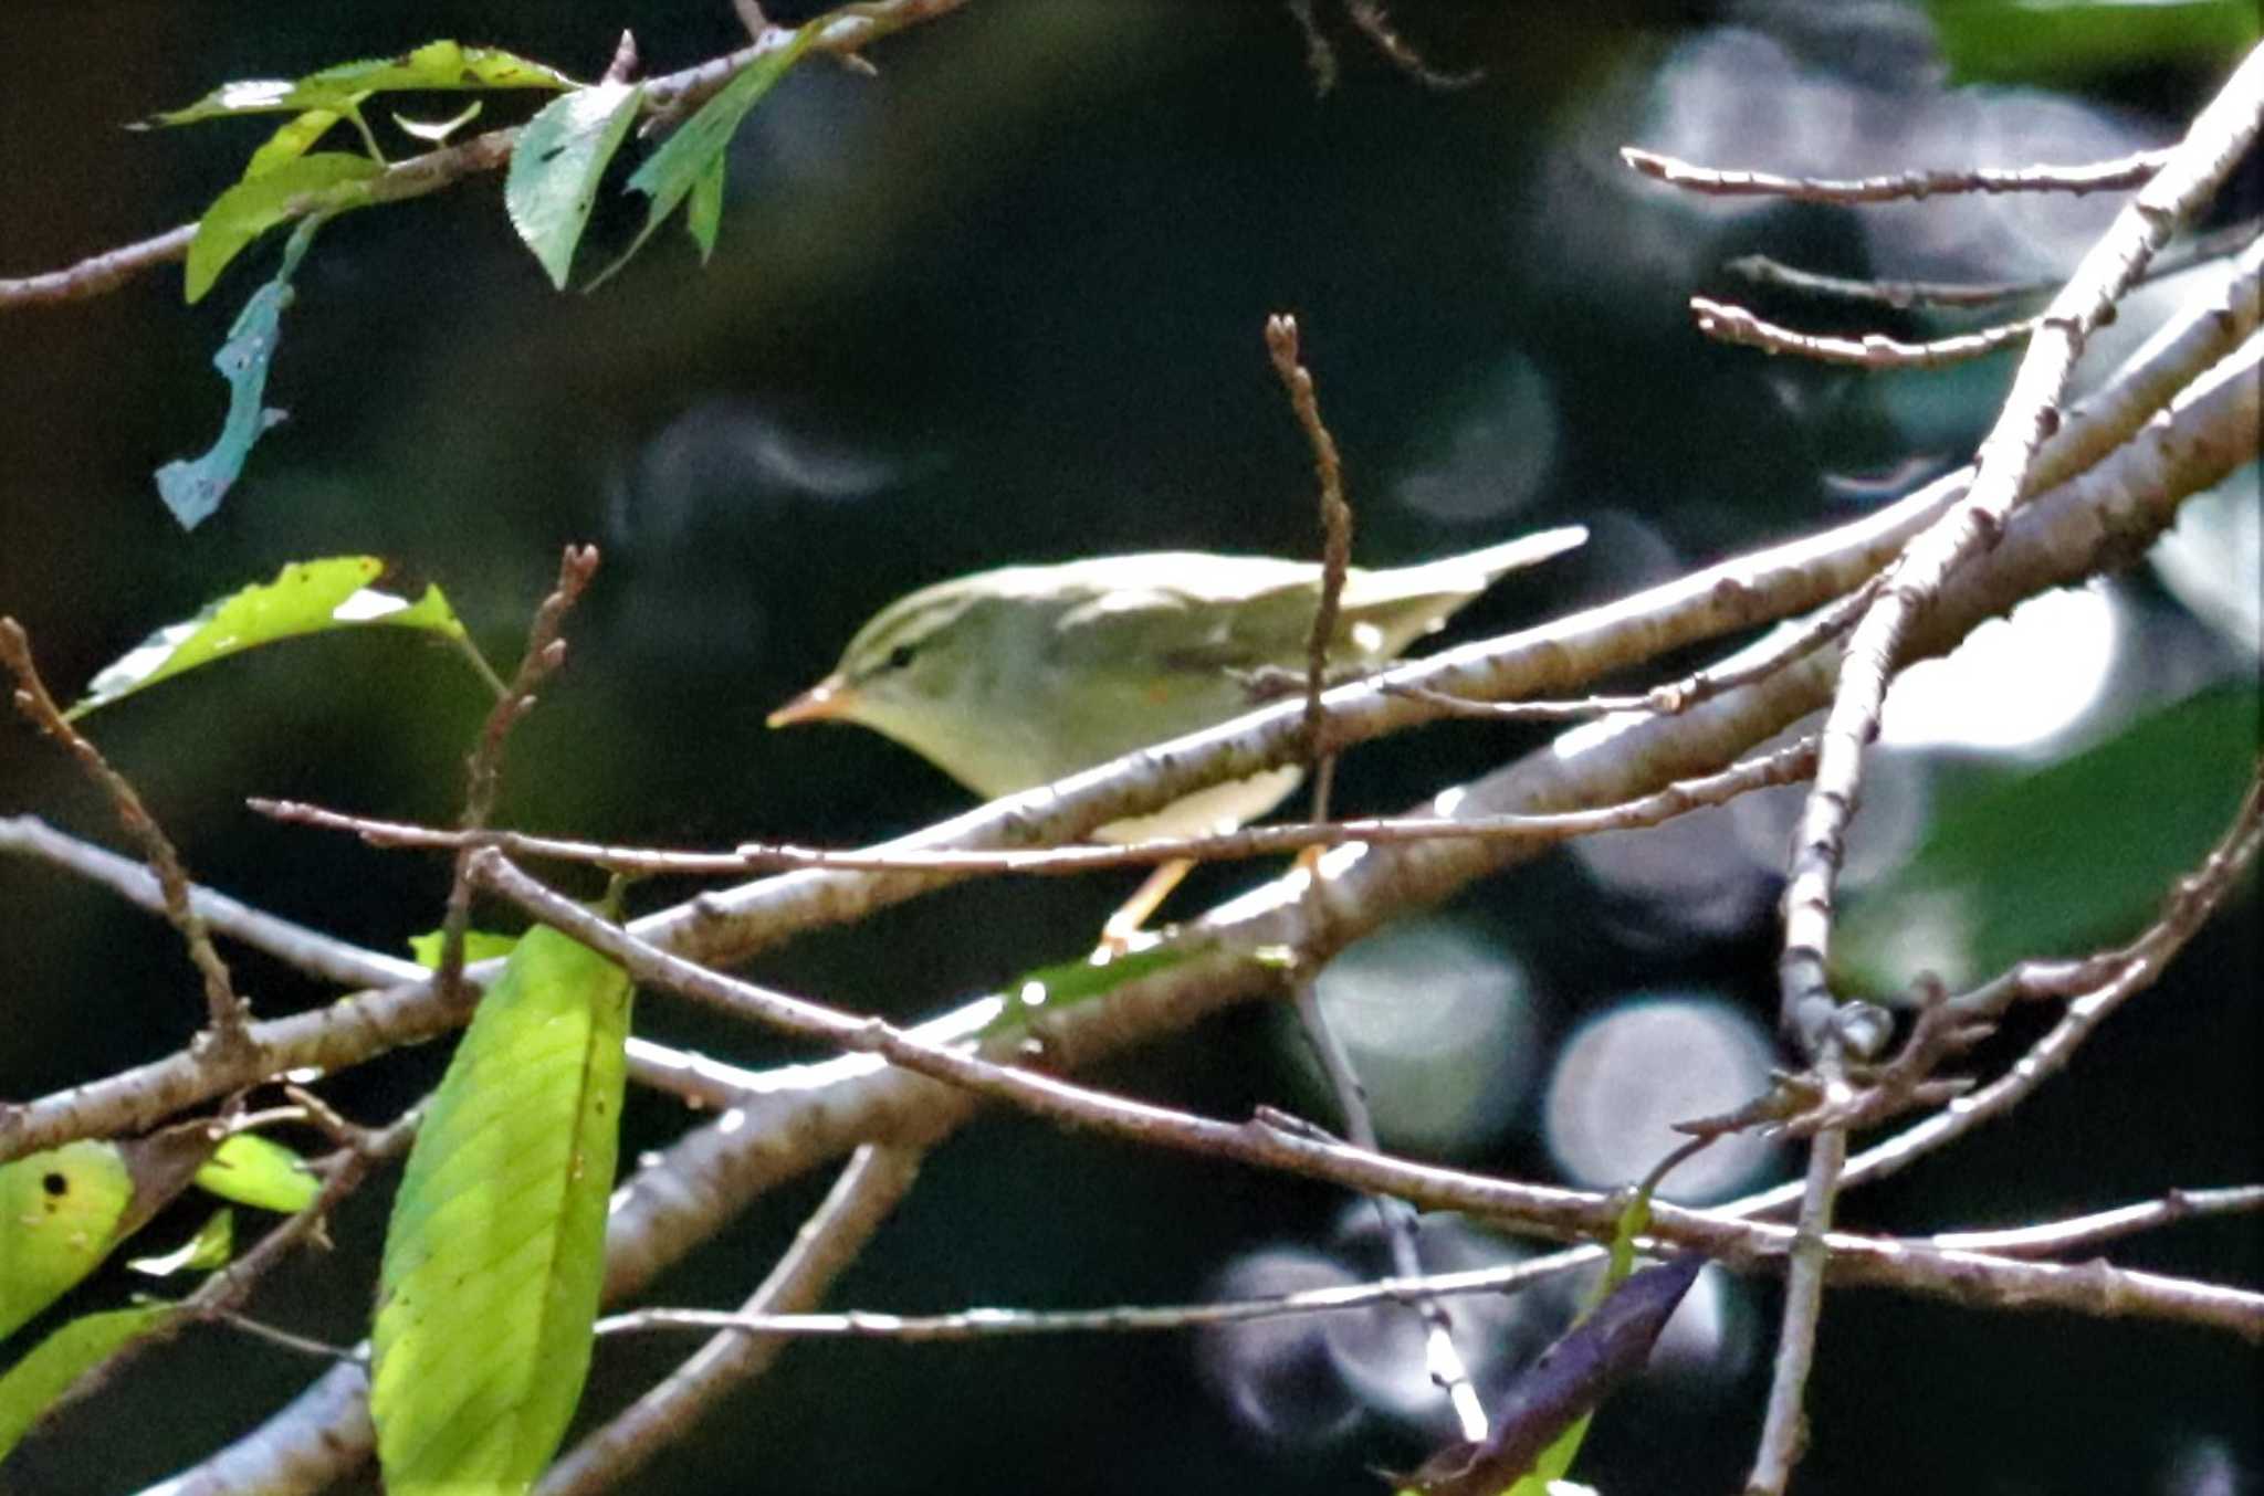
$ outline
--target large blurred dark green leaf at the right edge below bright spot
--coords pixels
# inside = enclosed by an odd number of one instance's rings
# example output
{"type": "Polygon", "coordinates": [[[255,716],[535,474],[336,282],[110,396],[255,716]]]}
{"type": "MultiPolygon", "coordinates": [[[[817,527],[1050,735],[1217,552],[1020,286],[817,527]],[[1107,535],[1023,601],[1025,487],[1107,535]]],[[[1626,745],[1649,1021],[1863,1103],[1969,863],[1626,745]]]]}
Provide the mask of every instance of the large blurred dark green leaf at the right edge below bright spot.
{"type": "Polygon", "coordinates": [[[2223,833],[2264,697],[2219,686],[1945,806],[1911,860],[1850,896],[1834,966],[1872,994],[1920,971],[1970,987],[2024,957],[2128,939],[2223,833]]]}

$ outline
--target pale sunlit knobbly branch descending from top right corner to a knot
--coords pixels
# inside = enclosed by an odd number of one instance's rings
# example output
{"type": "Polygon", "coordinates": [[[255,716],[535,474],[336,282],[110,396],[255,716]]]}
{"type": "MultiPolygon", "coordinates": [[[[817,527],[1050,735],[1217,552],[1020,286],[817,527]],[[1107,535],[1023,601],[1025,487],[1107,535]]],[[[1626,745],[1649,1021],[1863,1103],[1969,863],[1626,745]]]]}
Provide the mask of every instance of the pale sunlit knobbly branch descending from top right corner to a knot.
{"type": "Polygon", "coordinates": [[[2162,170],[2115,215],[2074,276],[2044,308],[2042,326],[2013,376],[1974,464],[1972,489],[1895,561],[1847,645],[1847,665],[1823,726],[1816,785],[1800,815],[1800,831],[1784,889],[1784,953],[1780,960],[1784,1023],[1813,1052],[1836,1021],[1827,960],[1838,869],[1847,824],[1863,794],[1863,749],[1879,733],[1886,683],[1915,620],[1943,584],[1986,552],[2029,489],[2044,441],[2060,425],[2060,396],[2092,328],[2169,235],[2216,190],[2264,127],[2264,45],[2235,70],[2226,88],[2196,115],[2194,127],[2162,170]]]}

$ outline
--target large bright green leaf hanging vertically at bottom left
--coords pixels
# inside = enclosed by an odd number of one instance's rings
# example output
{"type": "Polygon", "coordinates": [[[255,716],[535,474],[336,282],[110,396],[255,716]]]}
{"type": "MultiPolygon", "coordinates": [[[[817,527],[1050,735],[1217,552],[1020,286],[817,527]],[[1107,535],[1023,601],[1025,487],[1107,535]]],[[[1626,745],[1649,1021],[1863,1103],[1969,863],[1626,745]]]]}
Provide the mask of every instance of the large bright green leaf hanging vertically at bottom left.
{"type": "Polygon", "coordinates": [[[417,1129],[385,1233],[369,1410],[389,1496],[523,1491],[589,1374],[629,980],[518,942],[417,1129]]]}

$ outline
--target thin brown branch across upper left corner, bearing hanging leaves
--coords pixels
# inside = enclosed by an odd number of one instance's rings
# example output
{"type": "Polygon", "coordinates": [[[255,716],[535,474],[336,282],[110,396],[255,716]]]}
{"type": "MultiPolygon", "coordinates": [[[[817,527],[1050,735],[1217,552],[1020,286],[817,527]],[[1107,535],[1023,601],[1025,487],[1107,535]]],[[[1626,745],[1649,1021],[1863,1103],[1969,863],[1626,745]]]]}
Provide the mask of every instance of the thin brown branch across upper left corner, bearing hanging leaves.
{"type": "MultiPolygon", "coordinates": [[[[831,52],[835,57],[856,57],[865,45],[890,36],[892,32],[919,25],[921,20],[933,20],[946,11],[955,11],[964,2],[967,0],[865,0],[863,5],[844,5],[826,23],[826,29],[820,32],[817,41],[811,43],[811,50],[831,52]]],[[[711,59],[697,68],[684,68],[681,72],[666,72],[650,79],[645,84],[643,100],[648,115],[675,120],[691,113],[729,84],[740,68],[752,63],[763,52],[774,50],[774,45],[777,43],[765,38],[763,43],[740,48],[738,52],[711,59]]],[[[466,177],[496,172],[509,163],[516,147],[518,129],[491,129],[460,145],[396,161],[369,181],[371,201],[423,197],[455,186],[466,177]]],[[[306,206],[294,204],[288,208],[285,222],[303,215],[306,210],[306,206]]],[[[48,301],[84,301],[88,296],[113,292],[147,269],[186,260],[188,244],[195,238],[197,224],[181,224],[179,229],[168,229],[156,238],[88,256],[86,260],[66,265],[63,269],[50,269],[20,278],[0,278],[0,312],[48,301]]]]}

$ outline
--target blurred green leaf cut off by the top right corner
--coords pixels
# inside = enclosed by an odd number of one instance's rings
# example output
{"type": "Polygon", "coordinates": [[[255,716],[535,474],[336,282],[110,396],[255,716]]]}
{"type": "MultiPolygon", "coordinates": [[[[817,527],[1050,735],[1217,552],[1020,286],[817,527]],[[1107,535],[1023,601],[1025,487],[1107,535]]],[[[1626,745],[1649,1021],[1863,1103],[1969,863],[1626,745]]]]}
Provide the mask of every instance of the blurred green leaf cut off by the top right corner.
{"type": "Polygon", "coordinates": [[[2257,41],[2255,0],[1927,0],[1954,84],[2078,84],[2230,66],[2257,41]]]}

